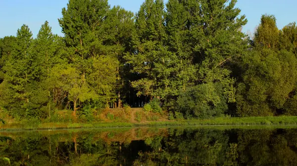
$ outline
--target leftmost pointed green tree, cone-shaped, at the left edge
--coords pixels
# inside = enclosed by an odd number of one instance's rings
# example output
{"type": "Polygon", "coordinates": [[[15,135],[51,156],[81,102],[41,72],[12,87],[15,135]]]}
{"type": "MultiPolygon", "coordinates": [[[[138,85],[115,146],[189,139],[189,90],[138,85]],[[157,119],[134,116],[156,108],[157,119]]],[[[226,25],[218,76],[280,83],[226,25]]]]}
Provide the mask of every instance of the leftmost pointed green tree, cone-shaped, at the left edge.
{"type": "Polygon", "coordinates": [[[32,94],[30,84],[37,73],[32,54],[32,32],[23,25],[17,31],[16,42],[11,56],[4,66],[5,79],[1,83],[1,105],[13,116],[30,114],[29,102],[32,94]],[[28,112],[29,111],[29,112],[28,112]]]}

